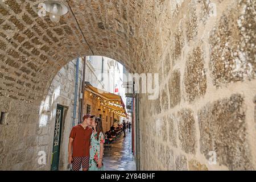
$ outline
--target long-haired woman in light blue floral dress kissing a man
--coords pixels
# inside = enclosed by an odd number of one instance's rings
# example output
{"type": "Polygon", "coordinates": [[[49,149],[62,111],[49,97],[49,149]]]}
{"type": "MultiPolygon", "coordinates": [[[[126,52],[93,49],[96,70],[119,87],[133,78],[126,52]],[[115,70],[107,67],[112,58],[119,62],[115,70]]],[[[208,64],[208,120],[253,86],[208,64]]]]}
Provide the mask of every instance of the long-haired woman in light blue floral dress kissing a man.
{"type": "Polygon", "coordinates": [[[102,129],[101,118],[92,121],[93,133],[90,137],[89,171],[103,171],[103,150],[105,136],[102,129]]]}

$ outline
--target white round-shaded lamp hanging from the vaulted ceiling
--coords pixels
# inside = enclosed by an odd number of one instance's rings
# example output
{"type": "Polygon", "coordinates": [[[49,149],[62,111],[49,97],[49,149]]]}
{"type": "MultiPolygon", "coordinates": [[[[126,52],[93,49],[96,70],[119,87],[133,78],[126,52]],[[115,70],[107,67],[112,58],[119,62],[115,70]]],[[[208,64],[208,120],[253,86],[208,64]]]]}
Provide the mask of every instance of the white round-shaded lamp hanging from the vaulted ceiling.
{"type": "Polygon", "coordinates": [[[45,1],[46,11],[49,12],[49,18],[52,22],[59,22],[60,16],[68,13],[68,8],[59,1],[45,1]]]}

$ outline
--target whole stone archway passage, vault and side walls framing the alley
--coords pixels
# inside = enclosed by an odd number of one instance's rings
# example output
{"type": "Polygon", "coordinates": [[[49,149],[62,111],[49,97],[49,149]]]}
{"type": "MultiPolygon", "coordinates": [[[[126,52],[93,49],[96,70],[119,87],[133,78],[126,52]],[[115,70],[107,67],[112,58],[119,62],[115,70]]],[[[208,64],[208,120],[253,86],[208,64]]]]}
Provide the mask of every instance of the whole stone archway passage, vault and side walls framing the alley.
{"type": "Polygon", "coordinates": [[[0,169],[35,162],[22,148],[36,150],[40,101],[61,67],[84,55],[160,73],[160,98],[140,98],[141,169],[256,168],[254,1],[69,0],[57,24],[38,16],[40,2],[0,2],[0,109],[9,123],[0,126],[0,169]],[[212,150],[222,166],[208,164],[212,150]]]}

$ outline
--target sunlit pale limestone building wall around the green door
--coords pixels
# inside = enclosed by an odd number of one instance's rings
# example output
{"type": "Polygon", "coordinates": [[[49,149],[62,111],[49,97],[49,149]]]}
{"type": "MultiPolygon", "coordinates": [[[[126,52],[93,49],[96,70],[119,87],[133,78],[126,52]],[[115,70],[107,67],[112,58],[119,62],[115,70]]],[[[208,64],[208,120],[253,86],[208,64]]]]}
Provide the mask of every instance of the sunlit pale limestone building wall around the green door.
{"type": "MultiPolygon", "coordinates": [[[[76,117],[75,125],[79,122],[79,90],[81,90],[82,82],[82,66],[83,61],[80,58],[79,61],[79,88],[77,95],[76,105],[76,117]]],[[[73,109],[75,98],[75,79],[76,79],[76,60],[72,60],[53,78],[51,85],[49,86],[48,95],[46,100],[42,102],[39,110],[39,127],[37,127],[37,135],[41,140],[36,143],[37,147],[45,145],[47,154],[47,164],[36,166],[40,170],[51,169],[52,158],[52,146],[56,121],[56,109],[57,105],[64,107],[63,123],[61,131],[61,143],[60,143],[60,159],[59,170],[68,169],[68,140],[69,133],[72,129],[73,122],[73,109]]],[[[35,155],[36,155],[35,150],[35,155]]],[[[35,159],[38,159],[38,157],[35,159]]]]}

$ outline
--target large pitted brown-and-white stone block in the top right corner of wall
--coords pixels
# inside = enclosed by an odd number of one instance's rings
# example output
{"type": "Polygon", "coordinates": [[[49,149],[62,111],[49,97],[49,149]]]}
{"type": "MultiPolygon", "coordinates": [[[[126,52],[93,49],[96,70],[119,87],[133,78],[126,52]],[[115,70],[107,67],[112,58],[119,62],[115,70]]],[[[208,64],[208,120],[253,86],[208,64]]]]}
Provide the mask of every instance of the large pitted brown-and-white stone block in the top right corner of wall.
{"type": "Polygon", "coordinates": [[[210,70],[218,88],[230,82],[254,78],[255,3],[240,1],[225,11],[210,33],[210,70]]]}

